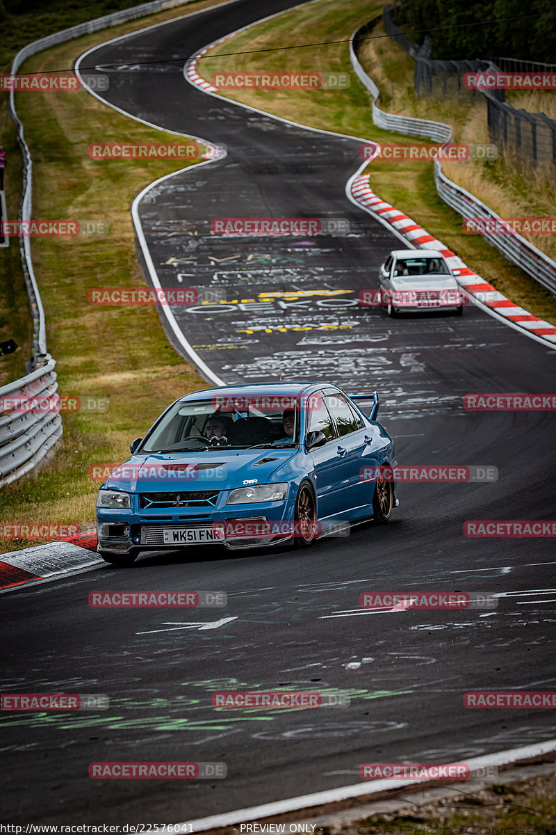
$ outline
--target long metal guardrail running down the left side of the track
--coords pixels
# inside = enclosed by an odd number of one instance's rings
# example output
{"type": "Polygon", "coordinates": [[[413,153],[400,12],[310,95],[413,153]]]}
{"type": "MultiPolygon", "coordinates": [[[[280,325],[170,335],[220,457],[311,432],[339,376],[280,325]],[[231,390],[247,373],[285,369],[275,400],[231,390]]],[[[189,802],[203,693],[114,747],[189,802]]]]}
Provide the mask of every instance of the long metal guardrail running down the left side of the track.
{"type": "MultiPolygon", "coordinates": [[[[20,49],[13,58],[11,74],[18,73],[19,68],[27,58],[66,43],[74,38],[81,38],[93,32],[116,26],[118,23],[128,23],[136,18],[143,18],[148,14],[162,12],[167,8],[183,6],[193,0],[153,0],[141,6],[124,9],[122,12],[104,15],[86,23],[79,23],[68,29],[62,29],[39,38],[33,43],[20,49]]],[[[33,160],[25,141],[23,124],[15,108],[14,91],[10,91],[10,114],[18,132],[18,143],[23,156],[23,189],[19,209],[20,220],[31,220],[33,208],[33,160]]],[[[31,242],[28,237],[19,238],[23,276],[28,290],[31,313],[33,316],[33,362],[34,371],[26,377],[8,385],[0,387],[0,398],[26,397],[25,392],[33,392],[33,397],[48,395],[58,388],[56,382],[55,360],[47,352],[46,326],[43,302],[38,291],[37,280],[33,271],[31,257],[31,242]]],[[[62,437],[62,418],[59,412],[18,412],[8,409],[0,413],[0,488],[21,478],[41,461],[48,451],[53,448],[62,437]]]]}

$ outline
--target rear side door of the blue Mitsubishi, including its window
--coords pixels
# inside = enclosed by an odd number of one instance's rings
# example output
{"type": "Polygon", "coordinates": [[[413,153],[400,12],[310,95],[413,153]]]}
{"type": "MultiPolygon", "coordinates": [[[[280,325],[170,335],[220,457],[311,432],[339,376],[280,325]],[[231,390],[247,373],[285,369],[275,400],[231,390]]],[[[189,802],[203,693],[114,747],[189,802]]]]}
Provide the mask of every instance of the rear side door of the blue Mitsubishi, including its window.
{"type": "Polygon", "coordinates": [[[363,504],[363,489],[359,476],[366,445],[363,420],[349,406],[347,398],[341,392],[325,395],[324,402],[333,417],[338,435],[337,452],[342,461],[338,465],[342,489],[341,509],[350,510],[363,504]]]}

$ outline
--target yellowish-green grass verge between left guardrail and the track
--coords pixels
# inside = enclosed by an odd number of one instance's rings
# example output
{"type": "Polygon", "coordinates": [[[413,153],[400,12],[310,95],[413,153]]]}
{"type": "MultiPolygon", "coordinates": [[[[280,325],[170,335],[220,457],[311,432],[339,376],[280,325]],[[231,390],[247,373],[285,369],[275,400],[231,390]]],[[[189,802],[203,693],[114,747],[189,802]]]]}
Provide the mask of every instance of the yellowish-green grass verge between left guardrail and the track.
{"type": "MultiPolygon", "coordinates": [[[[23,71],[72,67],[75,58],[96,43],[211,5],[191,3],[183,10],[64,43],[29,59],[23,71]]],[[[33,216],[108,220],[106,237],[37,238],[32,250],[46,313],[48,351],[58,363],[60,393],[108,397],[110,405],[106,413],[63,416],[58,453],[38,472],[0,491],[0,518],[90,529],[98,483],[89,478],[89,467],[128,458],[130,440],[143,435],[169,402],[206,387],[203,378],[169,345],[153,306],[88,303],[89,288],[144,286],[131,203],[145,185],[182,169],[188,160],[90,159],[92,140],[140,143],[176,141],[177,137],[127,119],[88,94],[18,94],[16,107],[33,158],[33,216]]],[[[10,245],[10,257],[16,251],[16,245],[10,245]]],[[[8,286],[10,273],[4,264],[1,275],[2,286],[8,286]]],[[[29,544],[35,543],[0,540],[0,550],[29,544]]]]}

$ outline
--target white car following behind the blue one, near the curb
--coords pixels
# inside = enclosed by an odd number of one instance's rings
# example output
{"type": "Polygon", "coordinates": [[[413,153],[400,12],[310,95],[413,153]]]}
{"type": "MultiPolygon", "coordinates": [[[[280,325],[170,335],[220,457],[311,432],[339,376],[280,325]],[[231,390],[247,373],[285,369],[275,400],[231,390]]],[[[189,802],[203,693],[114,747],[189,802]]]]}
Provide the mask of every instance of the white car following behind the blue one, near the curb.
{"type": "Polygon", "coordinates": [[[388,315],[431,308],[463,313],[465,292],[437,250],[394,250],[378,271],[388,315]]]}

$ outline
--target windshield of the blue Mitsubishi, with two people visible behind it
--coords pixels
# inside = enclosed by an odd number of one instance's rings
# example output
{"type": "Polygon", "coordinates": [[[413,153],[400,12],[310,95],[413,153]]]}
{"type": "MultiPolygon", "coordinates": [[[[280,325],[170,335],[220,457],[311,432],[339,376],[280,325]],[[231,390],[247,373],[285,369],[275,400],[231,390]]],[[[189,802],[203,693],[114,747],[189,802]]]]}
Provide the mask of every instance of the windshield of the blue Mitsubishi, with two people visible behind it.
{"type": "Polygon", "coordinates": [[[294,447],[299,407],[293,397],[243,395],[178,401],[155,423],[140,453],[201,452],[204,449],[294,447]]]}

